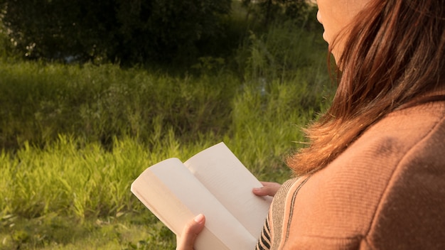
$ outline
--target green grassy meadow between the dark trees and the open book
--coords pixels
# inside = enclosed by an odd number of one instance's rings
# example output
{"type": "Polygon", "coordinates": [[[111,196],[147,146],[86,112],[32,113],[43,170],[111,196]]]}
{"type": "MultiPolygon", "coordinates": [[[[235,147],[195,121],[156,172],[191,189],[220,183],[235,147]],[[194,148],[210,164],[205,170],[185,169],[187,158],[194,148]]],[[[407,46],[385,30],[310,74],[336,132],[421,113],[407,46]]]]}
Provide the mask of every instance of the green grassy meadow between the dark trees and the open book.
{"type": "Polygon", "coordinates": [[[220,141],[260,180],[290,178],[332,96],[327,46],[291,24],[246,41],[181,73],[2,58],[0,249],[174,249],[129,187],[220,141]]]}

